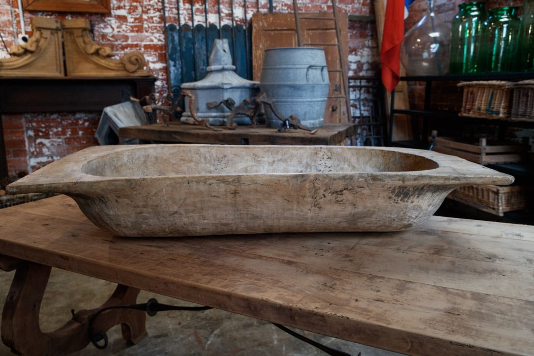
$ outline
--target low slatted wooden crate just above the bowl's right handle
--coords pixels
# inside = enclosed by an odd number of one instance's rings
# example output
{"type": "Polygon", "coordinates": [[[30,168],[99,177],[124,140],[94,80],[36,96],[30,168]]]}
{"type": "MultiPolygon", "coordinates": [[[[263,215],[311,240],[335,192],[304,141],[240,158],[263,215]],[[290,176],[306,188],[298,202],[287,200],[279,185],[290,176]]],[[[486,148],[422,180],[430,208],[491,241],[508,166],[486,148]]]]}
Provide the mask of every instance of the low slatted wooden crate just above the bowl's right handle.
{"type": "Polygon", "coordinates": [[[466,143],[453,137],[434,137],[433,151],[461,157],[478,164],[521,162],[528,145],[489,145],[485,138],[478,144],[466,143]]]}

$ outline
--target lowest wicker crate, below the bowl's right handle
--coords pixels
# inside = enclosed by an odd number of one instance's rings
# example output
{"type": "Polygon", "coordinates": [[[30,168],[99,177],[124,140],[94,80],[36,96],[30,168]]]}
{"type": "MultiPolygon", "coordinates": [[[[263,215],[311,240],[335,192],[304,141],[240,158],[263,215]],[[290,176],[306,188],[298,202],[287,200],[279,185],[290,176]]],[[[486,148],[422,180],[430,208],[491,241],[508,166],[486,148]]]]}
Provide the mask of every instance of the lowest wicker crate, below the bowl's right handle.
{"type": "Polygon", "coordinates": [[[470,185],[452,191],[448,198],[503,216],[507,211],[527,208],[527,191],[523,186],[470,185]]]}

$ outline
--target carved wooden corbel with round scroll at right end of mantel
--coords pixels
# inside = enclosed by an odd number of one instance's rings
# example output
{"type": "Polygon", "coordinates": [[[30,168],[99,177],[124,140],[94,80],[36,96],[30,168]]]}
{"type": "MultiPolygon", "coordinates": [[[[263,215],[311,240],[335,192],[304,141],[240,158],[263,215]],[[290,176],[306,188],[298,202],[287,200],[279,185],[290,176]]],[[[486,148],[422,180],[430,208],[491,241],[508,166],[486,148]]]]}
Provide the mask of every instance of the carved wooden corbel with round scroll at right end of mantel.
{"type": "Polygon", "coordinates": [[[148,76],[145,58],[138,51],[113,59],[110,48],[91,38],[87,19],[61,20],[65,48],[65,64],[69,77],[148,76]]]}

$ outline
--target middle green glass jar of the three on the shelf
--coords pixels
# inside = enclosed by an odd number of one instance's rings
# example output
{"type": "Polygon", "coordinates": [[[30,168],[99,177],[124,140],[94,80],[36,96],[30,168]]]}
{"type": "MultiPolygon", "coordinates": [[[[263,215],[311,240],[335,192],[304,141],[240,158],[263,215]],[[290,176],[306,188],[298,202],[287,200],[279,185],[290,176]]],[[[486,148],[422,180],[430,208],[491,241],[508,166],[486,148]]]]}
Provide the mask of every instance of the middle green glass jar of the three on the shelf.
{"type": "Polygon", "coordinates": [[[516,6],[497,7],[489,11],[484,22],[485,38],[482,58],[486,58],[481,72],[516,72],[519,68],[519,30],[521,20],[516,6]]]}

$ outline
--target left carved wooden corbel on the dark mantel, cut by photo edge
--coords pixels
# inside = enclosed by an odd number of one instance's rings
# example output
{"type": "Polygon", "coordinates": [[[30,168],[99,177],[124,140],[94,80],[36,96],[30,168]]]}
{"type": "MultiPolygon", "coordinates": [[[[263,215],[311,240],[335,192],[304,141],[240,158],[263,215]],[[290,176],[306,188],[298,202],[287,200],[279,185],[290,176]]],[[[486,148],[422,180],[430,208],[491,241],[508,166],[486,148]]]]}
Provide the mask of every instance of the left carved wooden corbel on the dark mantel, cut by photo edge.
{"type": "Polygon", "coordinates": [[[0,59],[0,77],[65,76],[60,21],[36,17],[32,29],[26,44],[11,46],[12,57],[0,59]]]}

